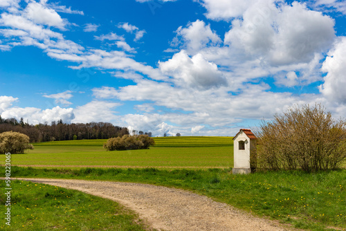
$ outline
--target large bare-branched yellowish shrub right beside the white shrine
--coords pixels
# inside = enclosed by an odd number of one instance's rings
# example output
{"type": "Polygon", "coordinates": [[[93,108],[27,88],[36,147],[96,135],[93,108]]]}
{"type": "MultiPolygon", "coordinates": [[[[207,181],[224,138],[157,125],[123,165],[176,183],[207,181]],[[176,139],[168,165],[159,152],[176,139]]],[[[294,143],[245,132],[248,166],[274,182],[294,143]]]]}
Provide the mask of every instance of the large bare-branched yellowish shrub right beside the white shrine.
{"type": "Polygon", "coordinates": [[[316,104],[293,107],[262,122],[257,133],[257,166],[267,169],[336,169],[346,158],[346,122],[316,104]]]}

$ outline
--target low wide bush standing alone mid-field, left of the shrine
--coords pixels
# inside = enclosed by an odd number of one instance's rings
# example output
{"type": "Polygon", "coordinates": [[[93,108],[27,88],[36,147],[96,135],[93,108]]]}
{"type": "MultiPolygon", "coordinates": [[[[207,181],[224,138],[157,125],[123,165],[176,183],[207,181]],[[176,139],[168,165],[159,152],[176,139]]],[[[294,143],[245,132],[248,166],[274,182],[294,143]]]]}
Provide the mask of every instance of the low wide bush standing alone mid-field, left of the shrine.
{"type": "Polygon", "coordinates": [[[107,143],[103,145],[107,151],[120,151],[132,149],[149,149],[151,145],[155,145],[153,138],[147,135],[129,136],[110,138],[107,143]]]}

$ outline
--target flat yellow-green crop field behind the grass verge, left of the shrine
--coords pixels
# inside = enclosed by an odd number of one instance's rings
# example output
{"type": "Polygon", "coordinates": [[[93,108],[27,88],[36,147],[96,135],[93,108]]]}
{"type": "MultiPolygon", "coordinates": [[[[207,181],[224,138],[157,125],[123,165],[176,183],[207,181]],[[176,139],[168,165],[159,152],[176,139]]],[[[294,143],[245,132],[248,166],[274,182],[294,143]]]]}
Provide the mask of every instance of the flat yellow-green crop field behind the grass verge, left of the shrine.
{"type": "MultiPolygon", "coordinates": [[[[145,150],[106,151],[107,140],[69,140],[33,144],[24,155],[12,155],[12,165],[35,167],[233,167],[230,137],[154,138],[145,150]]],[[[1,157],[4,158],[4,157],[1,157]]]]}

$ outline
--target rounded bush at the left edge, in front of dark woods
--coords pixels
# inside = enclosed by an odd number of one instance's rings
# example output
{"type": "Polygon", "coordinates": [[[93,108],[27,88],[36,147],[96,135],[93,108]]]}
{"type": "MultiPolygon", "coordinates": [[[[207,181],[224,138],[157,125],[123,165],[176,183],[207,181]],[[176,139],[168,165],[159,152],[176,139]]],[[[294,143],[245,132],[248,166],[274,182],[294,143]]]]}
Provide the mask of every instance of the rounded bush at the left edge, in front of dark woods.
{"type": "Polygon", "coordinates": [[[24,154],[26,149],[34,149],[29,137],[23,133],[6,131],[0,133],[0,154],[24,154]]]}

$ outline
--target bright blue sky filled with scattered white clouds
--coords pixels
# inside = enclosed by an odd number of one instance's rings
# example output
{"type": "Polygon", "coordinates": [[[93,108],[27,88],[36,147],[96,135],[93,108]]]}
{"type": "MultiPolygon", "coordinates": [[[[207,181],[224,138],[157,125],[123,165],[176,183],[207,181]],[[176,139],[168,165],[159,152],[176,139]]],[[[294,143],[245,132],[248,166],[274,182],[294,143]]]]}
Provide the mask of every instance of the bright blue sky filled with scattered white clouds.
{"type": "Polygon", "coordinates": [[[0,115],[234,136],[346,113],[346,2],[0,0],[0,115]]]}

